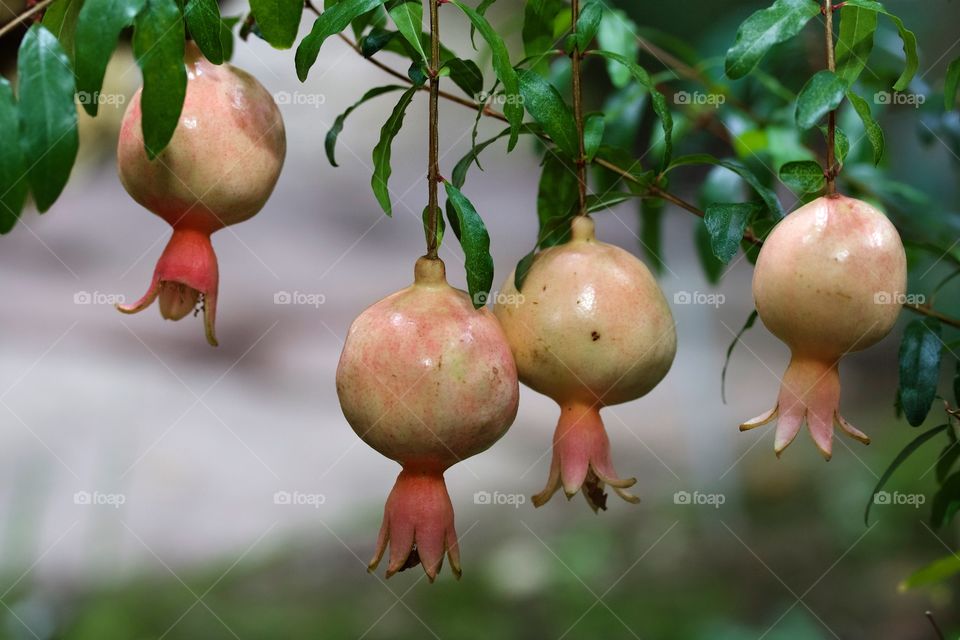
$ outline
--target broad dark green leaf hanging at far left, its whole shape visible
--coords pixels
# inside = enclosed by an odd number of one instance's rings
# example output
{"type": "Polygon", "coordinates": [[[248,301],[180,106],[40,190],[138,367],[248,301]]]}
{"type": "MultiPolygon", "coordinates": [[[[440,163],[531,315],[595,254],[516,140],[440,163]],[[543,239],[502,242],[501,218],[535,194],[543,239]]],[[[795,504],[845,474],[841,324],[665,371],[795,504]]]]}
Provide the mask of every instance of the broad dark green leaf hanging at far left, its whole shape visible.
{"type": "MultiPolygon", "coordinates": [[[[57,37],[35,24],[20,43],[20,150],[37,209],[60,196],[77,158],[76,91],[70,59],[57,37]]],[[[4,145],[9,144],[4,141],[4,145]]]]}

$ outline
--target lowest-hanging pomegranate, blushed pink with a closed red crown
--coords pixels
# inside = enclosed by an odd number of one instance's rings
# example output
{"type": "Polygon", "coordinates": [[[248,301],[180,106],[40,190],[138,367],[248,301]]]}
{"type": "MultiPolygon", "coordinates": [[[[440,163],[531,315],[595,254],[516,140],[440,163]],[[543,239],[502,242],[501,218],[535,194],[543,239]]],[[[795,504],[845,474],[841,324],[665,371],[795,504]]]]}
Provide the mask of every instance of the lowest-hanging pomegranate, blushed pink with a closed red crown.
{"type": "Polygon", "coordinates": [[[374,304],[350,327],[337,395],[357,435],[403,466],[370,570],[389,546],[388,578],[421,563],[432,582],[444,552],[460,577],[443,472],[499,440],[520,396],[496,318],[447,284],[442,261],[420,258],[412,286],[374,304]]]}

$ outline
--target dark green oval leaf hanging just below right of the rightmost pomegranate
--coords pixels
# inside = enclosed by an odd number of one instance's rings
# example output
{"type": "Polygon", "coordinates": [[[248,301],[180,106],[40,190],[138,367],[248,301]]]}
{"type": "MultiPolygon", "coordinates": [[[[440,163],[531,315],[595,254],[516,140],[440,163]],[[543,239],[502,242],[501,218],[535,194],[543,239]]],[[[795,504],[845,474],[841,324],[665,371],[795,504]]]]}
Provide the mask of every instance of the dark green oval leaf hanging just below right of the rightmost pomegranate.
{"type": "Polygon", "coordinates": [[[940,381],[940,322],[933,318],[907,325],[900,343],[900,402],[907,421],[919,426],[927,417],[940,381]]]}

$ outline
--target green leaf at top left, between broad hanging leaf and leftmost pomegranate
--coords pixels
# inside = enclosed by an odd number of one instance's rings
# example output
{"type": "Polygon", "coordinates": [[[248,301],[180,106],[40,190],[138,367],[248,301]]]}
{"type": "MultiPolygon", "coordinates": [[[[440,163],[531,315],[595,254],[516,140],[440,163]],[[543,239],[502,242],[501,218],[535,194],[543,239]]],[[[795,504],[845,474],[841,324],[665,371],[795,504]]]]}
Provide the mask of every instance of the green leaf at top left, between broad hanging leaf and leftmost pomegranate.
{"type": "Polygon", "coordinates": [[[97,115],[98,97],[120,32],[133,24],[146,0],[86,0],[77,18],[76,72],[80,103],[97,115]]]}

